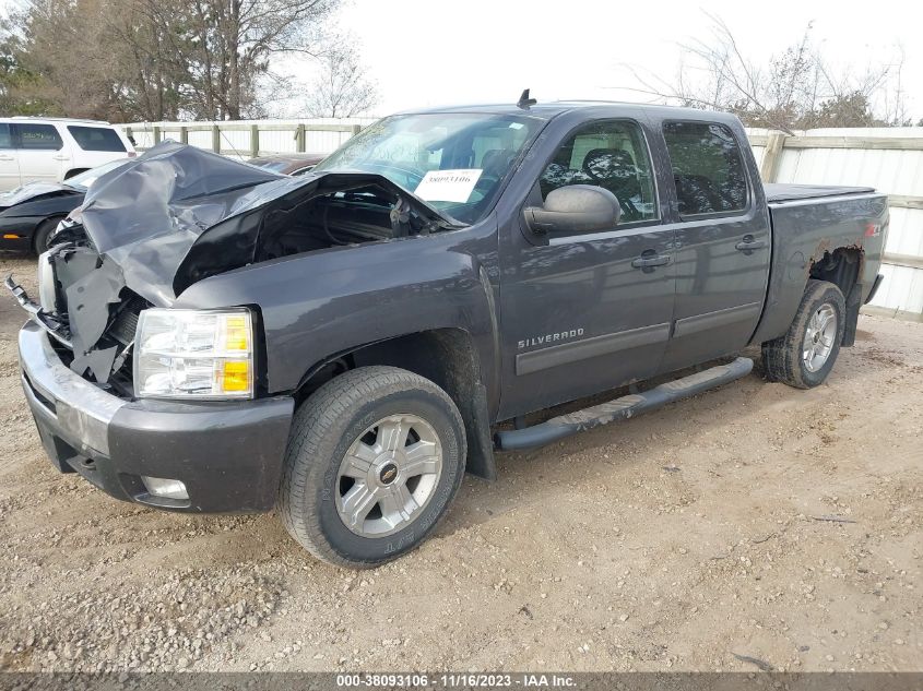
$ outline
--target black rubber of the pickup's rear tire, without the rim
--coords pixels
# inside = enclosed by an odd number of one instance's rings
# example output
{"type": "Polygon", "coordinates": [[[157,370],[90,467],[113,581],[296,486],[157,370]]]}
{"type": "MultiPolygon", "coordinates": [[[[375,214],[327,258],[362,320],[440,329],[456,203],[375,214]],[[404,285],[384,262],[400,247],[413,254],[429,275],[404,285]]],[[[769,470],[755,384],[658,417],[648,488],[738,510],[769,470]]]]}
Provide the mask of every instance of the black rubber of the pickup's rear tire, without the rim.
{"type": "Polygon", "coordinates": [[[845,325],[847,302],[840,289],[826,281],[808,281],[789,331],[762,344],[762,367],[767,379],[795,389],[812,389],[824,383],[840,354],[845,325]],[[812,371],[805,362],[802,348],[812,318],[825,306],[832,308],[836,313],[836,336],[826,362],[812,371]]]}

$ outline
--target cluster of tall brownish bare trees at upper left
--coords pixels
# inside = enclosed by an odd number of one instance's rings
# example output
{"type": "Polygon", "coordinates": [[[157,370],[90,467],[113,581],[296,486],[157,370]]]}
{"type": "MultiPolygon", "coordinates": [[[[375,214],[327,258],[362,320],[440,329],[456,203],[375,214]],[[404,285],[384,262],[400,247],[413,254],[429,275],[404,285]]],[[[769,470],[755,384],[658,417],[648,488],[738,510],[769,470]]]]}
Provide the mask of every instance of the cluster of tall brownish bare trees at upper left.
{"type": "Polygon", "coordinates": [[[271,61],[319,55],[339,2],[25,0],[0,26],[0,103],[108,119],[260,115],[271,61]]]}

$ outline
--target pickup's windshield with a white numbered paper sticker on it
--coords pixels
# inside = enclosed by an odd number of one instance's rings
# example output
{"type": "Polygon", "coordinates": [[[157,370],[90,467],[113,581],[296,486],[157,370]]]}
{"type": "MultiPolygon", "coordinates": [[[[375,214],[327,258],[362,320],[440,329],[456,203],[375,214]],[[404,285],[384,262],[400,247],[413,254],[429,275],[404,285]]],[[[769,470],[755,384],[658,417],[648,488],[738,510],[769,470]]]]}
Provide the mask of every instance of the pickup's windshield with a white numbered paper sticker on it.
{"type": "Polygon", "coordinates": [[[490,211],[541,124],[530,117],[485,114],[392,116],[363,130],[313,171],[375,172],[471,224],[490,211]]]}

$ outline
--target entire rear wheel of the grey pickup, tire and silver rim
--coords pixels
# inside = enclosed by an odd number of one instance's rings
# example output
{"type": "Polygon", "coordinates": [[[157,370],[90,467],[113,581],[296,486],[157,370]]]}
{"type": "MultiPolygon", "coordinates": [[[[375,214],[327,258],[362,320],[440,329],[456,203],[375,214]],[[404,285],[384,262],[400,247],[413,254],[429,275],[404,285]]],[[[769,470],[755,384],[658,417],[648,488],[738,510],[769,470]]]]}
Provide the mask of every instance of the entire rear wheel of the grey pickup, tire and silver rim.
{"type": "Polygon", "coordinates": [[[808,281],[789,331],[762,344],[767,378],[796,389],[821,384],[840,354],[845,325],[840,289],[826,281],[808,281]]]}

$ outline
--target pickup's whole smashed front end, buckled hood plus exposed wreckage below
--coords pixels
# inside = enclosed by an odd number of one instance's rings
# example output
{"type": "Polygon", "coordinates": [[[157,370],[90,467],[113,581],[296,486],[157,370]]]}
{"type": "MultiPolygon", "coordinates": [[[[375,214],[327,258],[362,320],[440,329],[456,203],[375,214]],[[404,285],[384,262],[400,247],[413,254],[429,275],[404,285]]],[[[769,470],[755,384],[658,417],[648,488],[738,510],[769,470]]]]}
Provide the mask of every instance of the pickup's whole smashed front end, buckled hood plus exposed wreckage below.
{"type": "Polygon", "coordinates": [[[94,182],[39,258],[39,302],[5,283],[72,371],[131,397],[141,311],[193,283],[460,225],[378,175],[291,178],[166,142],[94,182]]]}

